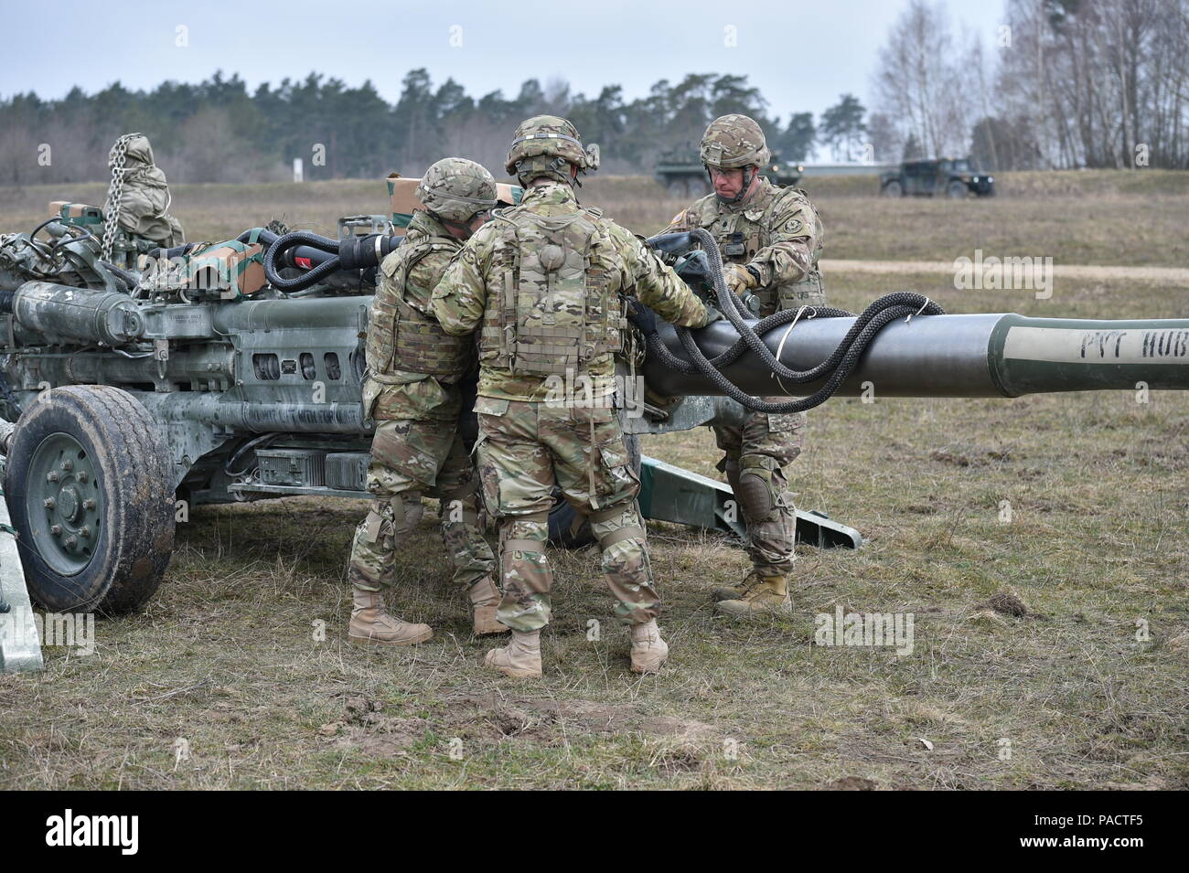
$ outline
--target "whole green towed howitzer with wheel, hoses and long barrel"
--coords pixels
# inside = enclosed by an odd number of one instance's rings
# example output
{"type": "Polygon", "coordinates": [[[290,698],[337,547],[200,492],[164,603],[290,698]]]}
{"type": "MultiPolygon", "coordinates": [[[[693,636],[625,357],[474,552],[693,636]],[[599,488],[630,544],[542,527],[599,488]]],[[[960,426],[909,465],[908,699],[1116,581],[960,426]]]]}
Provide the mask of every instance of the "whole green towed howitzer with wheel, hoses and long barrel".
{"type": "MultiPolygon", "coordinates": [[[[32,599],[119,612],[156,590],[175,521],[196,505],[363,496],[364,336],[376,265],[401,240],[352,234],[384,223],[367,216],[339,240],[256,228],[119,267],[74,220],[84,213],[67,204],[32,234],[0,236],[0,405],[17,422],[4,491],[32,599]]],[[[925,298],[892,295],[857,317],[756,322],[716,255],[687,251],[704,242],[698,233],[655,247],[691,284],[709,284],[725,317],[649,331],[647,393],[641,415],[624,417],[629,434],[738,416],[754,405],[748,394],[809,396],[781,407],[806,409],[864,382],[885,397],[1189,387],[1184,320],[939,315],[925,298]]],[[[650,461],[642,479],[648,517],[738,530],[725,486],[650,461]]],[[[556,515],[565,539],[565,507],[556,515]]],[[[857,544],[824,517],[800,520],[803,539],[857,544]]]]}

